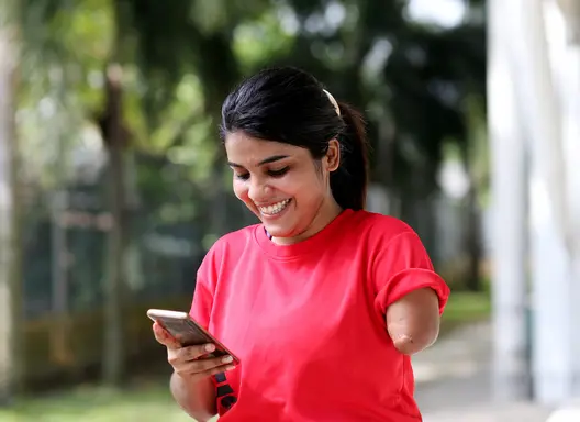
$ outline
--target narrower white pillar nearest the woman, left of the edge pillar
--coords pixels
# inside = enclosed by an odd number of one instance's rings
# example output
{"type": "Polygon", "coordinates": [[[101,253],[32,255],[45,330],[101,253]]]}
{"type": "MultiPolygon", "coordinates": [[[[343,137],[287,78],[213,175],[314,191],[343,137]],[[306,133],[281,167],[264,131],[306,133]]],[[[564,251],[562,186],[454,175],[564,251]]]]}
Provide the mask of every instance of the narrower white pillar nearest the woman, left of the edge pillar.
{"type": "Polygon", "coordinates": [[[493,257],[493,392],[526,396],[526,174],[525,142],[511,63],[514,2],[490,0],[488,119],[491,144],[493,257]]]}

